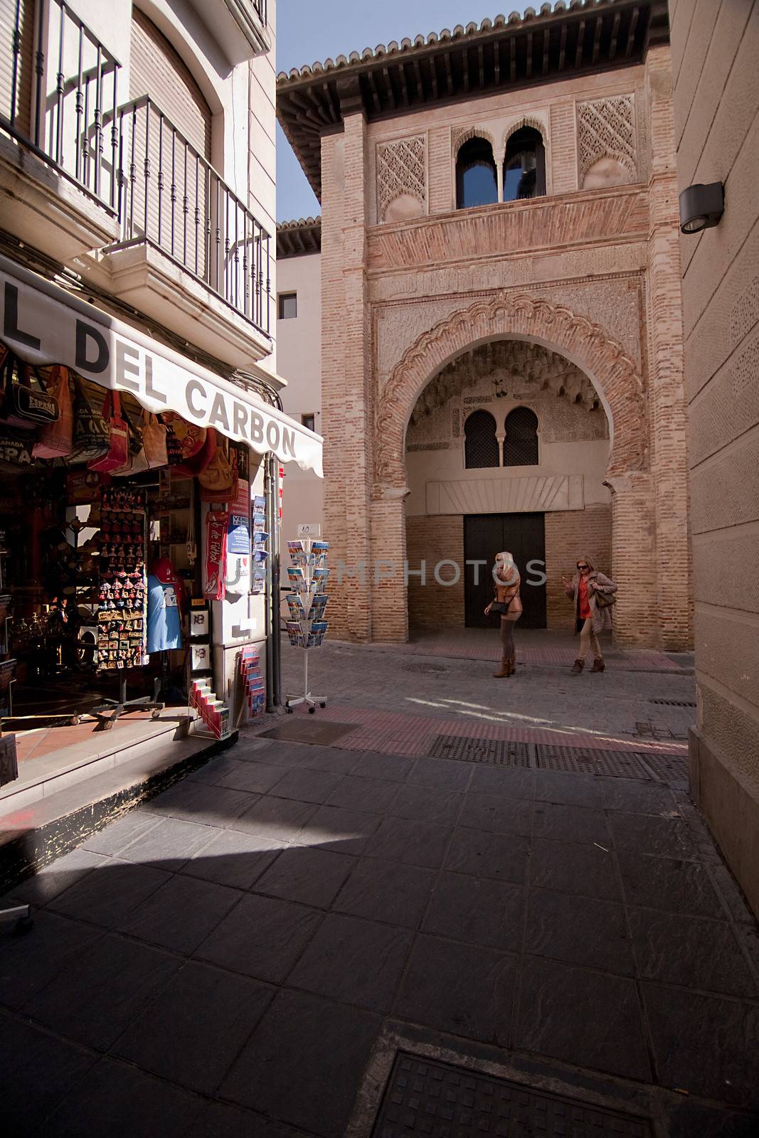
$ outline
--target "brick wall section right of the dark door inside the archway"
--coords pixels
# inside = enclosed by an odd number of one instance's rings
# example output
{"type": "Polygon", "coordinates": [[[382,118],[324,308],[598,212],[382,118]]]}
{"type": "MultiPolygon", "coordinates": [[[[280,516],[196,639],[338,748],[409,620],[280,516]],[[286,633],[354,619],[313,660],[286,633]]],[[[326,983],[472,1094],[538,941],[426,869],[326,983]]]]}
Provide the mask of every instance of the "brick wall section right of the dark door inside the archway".
{"type": "Polygon", "coordinates": [[[577,559],[588,556],[600,572],[611,576],[611,506],[592,505],[545,516],[546,622],[548,628],[574,632],[572,607],[561,585],[577,559]]]}

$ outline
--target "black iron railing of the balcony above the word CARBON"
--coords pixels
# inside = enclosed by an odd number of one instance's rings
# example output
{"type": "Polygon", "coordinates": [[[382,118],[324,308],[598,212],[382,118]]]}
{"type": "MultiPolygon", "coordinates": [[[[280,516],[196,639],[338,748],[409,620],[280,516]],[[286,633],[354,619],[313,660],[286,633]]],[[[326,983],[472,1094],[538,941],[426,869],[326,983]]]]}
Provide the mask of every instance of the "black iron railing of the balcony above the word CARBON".
{"type": "Polygon", "coordinates": [[[116,118],[119,246],[155,246],[269,335],[269,232],[149,96],[116,118]]]}

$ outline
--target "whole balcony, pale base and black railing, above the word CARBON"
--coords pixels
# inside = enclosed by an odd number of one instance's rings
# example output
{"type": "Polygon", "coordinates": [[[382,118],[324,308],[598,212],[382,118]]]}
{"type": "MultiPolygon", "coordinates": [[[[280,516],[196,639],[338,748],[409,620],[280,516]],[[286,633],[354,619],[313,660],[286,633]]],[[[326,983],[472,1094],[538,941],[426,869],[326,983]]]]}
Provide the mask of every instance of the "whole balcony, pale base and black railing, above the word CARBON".
{"type": "Polygon", "coordinates": [[[270,236],[148,96],[118,107],[108,288],[224,362],[271,352],[270,236]]]}

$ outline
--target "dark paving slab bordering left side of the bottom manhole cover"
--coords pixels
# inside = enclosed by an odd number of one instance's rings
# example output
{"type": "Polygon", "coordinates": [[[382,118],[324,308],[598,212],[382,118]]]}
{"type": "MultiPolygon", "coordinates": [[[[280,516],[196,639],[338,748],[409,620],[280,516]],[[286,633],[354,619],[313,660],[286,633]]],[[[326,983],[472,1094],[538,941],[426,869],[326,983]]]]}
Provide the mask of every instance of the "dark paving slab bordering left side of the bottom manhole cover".
{"type": "Polygon", "coordinates": [[[380,1024],[370,1012],[283,991],[221,1094],[321,1138],[341,1138],[380,1024]]]}

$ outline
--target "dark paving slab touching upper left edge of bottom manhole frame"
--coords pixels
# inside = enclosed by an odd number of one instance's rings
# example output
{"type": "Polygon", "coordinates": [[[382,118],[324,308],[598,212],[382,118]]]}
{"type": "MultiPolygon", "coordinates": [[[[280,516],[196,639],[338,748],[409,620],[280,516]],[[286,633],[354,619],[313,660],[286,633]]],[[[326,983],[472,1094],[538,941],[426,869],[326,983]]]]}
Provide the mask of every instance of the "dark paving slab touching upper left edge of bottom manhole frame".
{"type": "Polygon", "coordinates": [[[420,935],[395,1015],[454,1036],[509,1046],[517,957],[420,935]]]}

